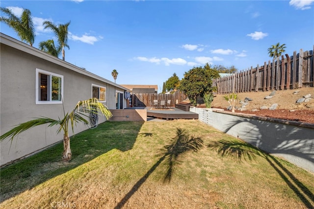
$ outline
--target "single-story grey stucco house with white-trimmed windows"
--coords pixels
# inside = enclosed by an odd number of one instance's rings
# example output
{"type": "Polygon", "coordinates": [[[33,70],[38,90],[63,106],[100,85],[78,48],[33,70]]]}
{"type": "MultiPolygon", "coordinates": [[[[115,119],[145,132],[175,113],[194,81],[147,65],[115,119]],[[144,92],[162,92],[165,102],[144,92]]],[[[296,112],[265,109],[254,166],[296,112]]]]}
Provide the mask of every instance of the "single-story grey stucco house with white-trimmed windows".
{"type": "MultiPolygon", "coordinates": [[[[97,97],[109,109],[127,106],[129,89],[0,33],[0,133],[36,117],[63,118],[80,100],[97,97]]],[[[99,123],[105,122],[99,117],[99,123]]],[[[20,133],[0,143],[0,166],[63,139],[57,126],[20,133]]],[[[78,124],[75,133],[89,129],[78,124]]],[[[69,134],[72,134],[70,131],[69,134]]]]}

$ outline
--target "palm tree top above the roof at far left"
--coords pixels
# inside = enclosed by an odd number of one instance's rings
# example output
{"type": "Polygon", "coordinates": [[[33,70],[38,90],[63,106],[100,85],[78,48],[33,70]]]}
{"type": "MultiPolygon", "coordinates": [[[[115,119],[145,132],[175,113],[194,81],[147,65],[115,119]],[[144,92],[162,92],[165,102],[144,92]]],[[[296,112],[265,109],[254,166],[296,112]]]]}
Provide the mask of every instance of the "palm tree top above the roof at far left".
{"type": "Polygon", "coordinates": [[[30,46],[33,46],[35,41],[35,28],[31,19],[31,13],[28,9],[24,9],[21,17],[17,17],[9,8],[0,7],[8,17],[0,17],[0,21],[12,27],[21,38],[30,46]]]}

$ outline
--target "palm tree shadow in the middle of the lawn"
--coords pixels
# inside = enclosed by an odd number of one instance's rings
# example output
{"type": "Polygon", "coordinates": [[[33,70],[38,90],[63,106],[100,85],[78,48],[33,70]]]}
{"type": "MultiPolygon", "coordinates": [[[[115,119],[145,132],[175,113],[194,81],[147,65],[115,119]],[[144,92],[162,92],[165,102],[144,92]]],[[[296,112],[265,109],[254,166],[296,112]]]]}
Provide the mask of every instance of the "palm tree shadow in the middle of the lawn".
{"type": "Polygon", "coordinates": [[[189,137],[185,130],[177,128],[176,137],[174,137],[168,145],[165,145],[160,150],[159,155],[162,157],[160,157],[159,160],[149,169],[149,171],[147,171],[147,173],[134,184],[131,190],[124,196],[124,198],[122,198],[114,209],[121,209],[164,159],[168,159],[168,169],[164,177],[164,182],[170,182],[174,165],[178,162],[178,157],[188,151],[197,152],[203,147],[203,145],[204,142],[200,137],[189,137]]]}

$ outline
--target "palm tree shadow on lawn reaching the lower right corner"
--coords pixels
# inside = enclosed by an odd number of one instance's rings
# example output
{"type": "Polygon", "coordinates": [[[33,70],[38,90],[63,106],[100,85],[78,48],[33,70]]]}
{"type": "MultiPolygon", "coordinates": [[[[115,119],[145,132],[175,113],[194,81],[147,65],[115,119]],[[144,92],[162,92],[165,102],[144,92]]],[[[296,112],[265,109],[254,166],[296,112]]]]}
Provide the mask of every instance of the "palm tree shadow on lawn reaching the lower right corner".
{"type": "Polygon", "coordinates": [[[301,183],[280,161],[254,147],[253,145],[239,140],[227,141],[219,140],[208,144],[208,148],[217,151],[218,155],[233,157],[237,160],[253,160],[257,156],[264,157],[268,163],[275,169],[280,177],[287,183],[293,192],[299,197],[307,208],[314,208],[311,200],[314,200],[314,194],[301,183]]]}

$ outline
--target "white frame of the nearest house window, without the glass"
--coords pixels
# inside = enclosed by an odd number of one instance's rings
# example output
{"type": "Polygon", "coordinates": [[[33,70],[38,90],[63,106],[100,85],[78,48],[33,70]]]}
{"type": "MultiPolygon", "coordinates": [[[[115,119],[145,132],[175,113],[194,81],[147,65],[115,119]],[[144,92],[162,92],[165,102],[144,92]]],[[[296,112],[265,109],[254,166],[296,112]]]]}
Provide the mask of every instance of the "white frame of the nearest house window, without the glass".
{"type": "Polygon", "coordinates": [[[36,104],[62,104],[63,92],[64,92],[64,85],[63,85],[63,76],[55,73],[51,73],[45,70],[41,70],[36,68],[36,104]],[[61,101],[52,101],[52,82],[50,82],[49,86],[49,94],[50,94],[50,101],[40,101],[39,100],[39,74],[46,74],[49,75],[50,81],[52,80],[52,76],[61,78],[61,101]]]}

